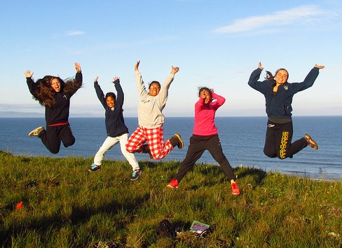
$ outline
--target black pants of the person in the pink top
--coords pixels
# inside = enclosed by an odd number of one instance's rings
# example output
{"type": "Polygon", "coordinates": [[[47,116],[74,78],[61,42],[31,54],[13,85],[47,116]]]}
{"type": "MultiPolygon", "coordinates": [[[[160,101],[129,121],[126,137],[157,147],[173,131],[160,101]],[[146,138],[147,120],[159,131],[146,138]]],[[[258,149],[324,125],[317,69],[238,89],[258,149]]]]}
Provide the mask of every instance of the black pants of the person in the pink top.
{"type": "Polygon", "coordinates": [[[186,152],[186,157],[182,161],[182,165],[179,168],[177,175],[175,176],[177,181],[182,180],[185,174],[193,167],[193,165],[200,158],[200,156],[202,156],[205,150],[209,151],[214,160],[219,163],[228,179],[235,179],[233,169],[231,168],[231,165],[229,164],[226,156],[224,156],[224,153],[222,151],[219,136],[192,135],[190,137],[190,144],[188,151],[186,152]]]}

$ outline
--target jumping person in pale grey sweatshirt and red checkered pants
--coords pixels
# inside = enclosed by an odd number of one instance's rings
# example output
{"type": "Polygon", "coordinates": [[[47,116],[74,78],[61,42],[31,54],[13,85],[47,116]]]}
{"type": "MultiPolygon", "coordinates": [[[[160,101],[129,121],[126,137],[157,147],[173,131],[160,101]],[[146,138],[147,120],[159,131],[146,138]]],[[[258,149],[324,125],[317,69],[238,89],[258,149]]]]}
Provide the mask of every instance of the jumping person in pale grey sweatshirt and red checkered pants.
{"type": "Polygon", "coordinates": [[[163,123],[165,116],[162,111],[167,101],[167,93],[170,84],[179,71],[179,67],[172,67],[170,75],[162,86],[158,81],[149,84],[146,90],[139,67],[140,61],[135,64],[135,82],[139,92],[138,121],[139,126],[132,133],[126,144],[126,150],[130,153],[149,153],[150,158],[162,159],[167,156],[175,146],[182,149],[184,143],[179,134],[175,134],[164,142],[163,123]],[[147,143],[147,144],[145,144],[147,143]]]}

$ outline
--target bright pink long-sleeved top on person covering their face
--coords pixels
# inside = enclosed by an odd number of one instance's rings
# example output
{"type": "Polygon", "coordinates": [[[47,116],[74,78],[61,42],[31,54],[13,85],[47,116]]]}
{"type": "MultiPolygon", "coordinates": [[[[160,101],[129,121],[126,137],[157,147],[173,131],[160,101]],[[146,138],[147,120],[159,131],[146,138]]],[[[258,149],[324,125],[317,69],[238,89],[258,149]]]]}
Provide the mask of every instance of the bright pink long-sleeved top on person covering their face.
{"type": "Polygon", "coordinates": [[[215,125],[215,112],[226,102],[224,97],[212,92],[212,102],[205,104],[205,99],[200,98],[195,104],[195,125],[193,135],[209,136],[217,135],[215,125]]]}

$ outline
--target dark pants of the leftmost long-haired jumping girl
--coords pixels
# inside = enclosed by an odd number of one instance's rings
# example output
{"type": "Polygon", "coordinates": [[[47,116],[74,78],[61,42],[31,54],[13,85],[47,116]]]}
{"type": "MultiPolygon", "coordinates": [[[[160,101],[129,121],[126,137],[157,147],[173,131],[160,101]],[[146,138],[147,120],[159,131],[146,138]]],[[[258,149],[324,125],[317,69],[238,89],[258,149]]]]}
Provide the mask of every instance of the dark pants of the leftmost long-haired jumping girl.
{"type": "Polygon", "coordinates": [[[53,127],[46,127],[39,133],[41,142],[46,146],[51,153],[58,153],[60,151],[60,142],[63,142],[65,147],[72,146],[76,139],[72,135],[70,125],[56,125],[53,127]]]}

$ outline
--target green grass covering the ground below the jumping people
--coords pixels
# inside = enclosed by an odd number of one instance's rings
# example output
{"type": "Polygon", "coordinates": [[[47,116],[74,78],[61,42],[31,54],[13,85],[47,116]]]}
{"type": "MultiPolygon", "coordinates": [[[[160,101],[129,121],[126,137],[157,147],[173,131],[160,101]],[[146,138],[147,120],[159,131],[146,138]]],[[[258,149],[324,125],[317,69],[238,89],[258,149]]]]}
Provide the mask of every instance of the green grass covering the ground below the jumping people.
{"type": "Polygon", "coordinates": [[[240,195],[220,167],[196,165],[167,188],[179,161],[13,156],[0,151],[0,247],[341,247],[342,181],[235,168],[240,195]],[[24,207],[17,210],[22,201],[24,207]],[[180,228],[158,235],[163,219],[180,228]],[[193,220],[212,233],[189,233],[193,220]]]}

